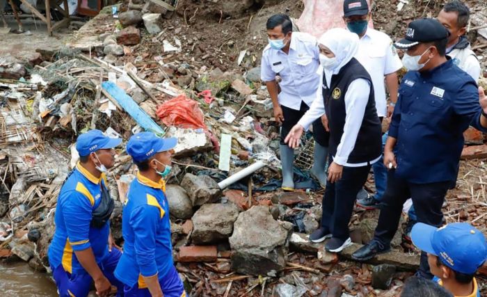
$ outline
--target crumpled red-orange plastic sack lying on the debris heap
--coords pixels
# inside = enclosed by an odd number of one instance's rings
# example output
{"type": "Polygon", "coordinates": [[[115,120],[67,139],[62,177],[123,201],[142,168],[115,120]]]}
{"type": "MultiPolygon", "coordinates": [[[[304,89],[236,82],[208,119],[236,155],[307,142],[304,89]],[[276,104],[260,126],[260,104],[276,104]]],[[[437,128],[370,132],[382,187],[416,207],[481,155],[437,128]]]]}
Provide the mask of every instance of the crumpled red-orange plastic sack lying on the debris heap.
{"type": "Polygon", "coordinates": [[[156,111],[157,116],[166,126],[184,129],[207,129],[198,102],[185,95],[164,102],[156,111]]]}

